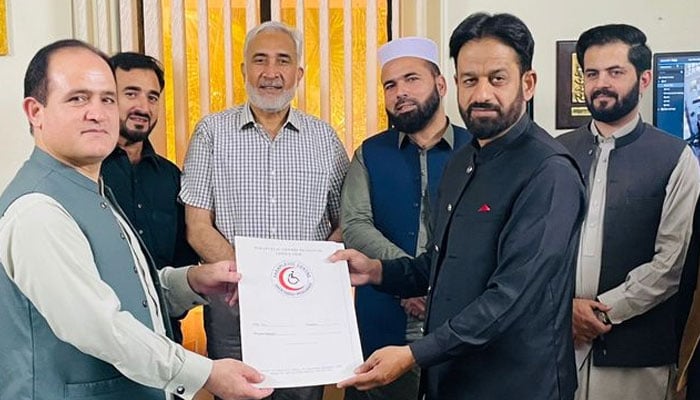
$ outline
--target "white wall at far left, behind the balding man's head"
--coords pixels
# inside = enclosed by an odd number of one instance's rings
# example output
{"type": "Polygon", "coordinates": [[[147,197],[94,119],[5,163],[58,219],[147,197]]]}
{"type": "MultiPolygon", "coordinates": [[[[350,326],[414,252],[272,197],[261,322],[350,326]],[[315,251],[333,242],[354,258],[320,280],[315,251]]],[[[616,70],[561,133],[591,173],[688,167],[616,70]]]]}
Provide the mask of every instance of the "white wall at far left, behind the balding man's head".
{"type": "Polygon", "coordinates": [[[71,37],[70,0],[6,0],[6,6],[10,54],[0,56],[0,191],[33,146],[21,107],[27,64],[41,47],[71,37]]]}

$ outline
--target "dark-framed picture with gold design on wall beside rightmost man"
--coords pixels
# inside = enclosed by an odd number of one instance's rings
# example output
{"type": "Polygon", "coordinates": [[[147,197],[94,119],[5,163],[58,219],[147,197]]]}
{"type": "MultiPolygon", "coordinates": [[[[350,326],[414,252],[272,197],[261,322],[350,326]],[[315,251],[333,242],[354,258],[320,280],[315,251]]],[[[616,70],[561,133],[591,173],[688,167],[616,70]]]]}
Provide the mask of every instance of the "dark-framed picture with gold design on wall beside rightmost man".
{"type": "Polygon", "coordinates": [[[556,129],[574,129],[591,120],[583,91],[583,70],[575,40],[557,40],[556,129]]]}

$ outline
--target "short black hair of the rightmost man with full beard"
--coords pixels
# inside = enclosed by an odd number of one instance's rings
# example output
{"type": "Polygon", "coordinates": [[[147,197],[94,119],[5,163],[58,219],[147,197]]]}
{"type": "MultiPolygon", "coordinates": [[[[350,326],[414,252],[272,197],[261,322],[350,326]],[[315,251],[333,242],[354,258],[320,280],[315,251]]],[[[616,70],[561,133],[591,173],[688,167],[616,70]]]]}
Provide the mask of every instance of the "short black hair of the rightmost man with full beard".
{"type": "Polygon", "coordinates": [[[651,49],[647,46],[647,35],[627,24],[600,25],[583,32],[576,42],[576,59],[581,68],[585,68],[583,56],[589,47],[609,43],[624,43],[630,46],[627,59],[634,65],[637,77],[651,69],[651,49]]]}

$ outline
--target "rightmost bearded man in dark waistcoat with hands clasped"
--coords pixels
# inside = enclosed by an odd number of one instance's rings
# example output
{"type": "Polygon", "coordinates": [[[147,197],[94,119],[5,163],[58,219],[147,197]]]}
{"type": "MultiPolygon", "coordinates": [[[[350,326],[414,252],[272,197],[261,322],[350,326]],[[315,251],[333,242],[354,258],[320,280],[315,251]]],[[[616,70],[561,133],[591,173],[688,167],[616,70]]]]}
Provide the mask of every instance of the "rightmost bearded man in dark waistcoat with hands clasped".
{"type": "Polygon", "coordinates": [[[644,33],[630,25],[591,28],[576,55],[593,116],[559,137],[581,166],[589,196],[573,304],[576,396],[670,398],[676,293],[700,169],[684,141],[639,116],[652,80],[644,33]]]}

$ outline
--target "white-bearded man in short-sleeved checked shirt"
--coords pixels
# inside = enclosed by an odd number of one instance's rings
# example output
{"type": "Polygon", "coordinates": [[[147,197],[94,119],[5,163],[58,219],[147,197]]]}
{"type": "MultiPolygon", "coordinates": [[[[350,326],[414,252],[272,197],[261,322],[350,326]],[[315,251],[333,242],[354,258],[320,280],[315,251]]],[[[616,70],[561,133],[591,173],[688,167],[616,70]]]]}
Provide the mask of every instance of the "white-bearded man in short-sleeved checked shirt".
{"type": "MultiPolygon", "coordinates": [[[[203,260],[233,260],[236,235],[340,240],[340,190],[348,157],[326,122],[290,107],[304,74],[299,33],[265,22],[246,36],[248,102],[204,117],[185,159],[180,198],[187,238],[203,260]]],[[[207,261],[208,262],[208,261],[207,261]]],[[[241,358],[238,309],[204,309],[213,359],[241,358]]],[[[323,387],[282,389],[274,399],[321,399],[323,387]]]]}

